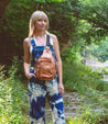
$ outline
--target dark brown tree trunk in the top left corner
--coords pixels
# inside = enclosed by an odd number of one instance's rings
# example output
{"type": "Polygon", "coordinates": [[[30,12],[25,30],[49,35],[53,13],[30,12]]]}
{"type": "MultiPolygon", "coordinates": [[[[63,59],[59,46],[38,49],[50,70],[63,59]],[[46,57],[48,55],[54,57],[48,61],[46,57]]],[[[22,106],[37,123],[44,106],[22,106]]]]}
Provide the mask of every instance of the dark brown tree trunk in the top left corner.
{"type": "Polygon", "coordinates": [[[0,22],[1,22],[3,14],[4,14],[7,5],[9,4],[10,1],[11,0],[0,0],[0,22]]]}

